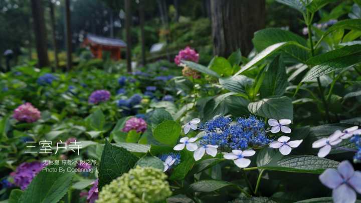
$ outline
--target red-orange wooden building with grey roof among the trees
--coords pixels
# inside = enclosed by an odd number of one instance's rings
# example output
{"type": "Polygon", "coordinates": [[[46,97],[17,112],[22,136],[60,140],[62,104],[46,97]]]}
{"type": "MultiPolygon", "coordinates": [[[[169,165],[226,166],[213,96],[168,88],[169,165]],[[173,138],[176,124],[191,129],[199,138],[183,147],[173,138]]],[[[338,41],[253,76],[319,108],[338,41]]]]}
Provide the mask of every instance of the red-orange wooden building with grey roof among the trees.
{"type": "Polygon", "coordinates": [[[124,41],[115,38],[99,37],[96,35],[87,34],[83,46],[89,46],[95,58],[101,59],[103,51],[110,52],[110,58],[117,61],[121,59],[121,48],[125,48],[124,41]]]}

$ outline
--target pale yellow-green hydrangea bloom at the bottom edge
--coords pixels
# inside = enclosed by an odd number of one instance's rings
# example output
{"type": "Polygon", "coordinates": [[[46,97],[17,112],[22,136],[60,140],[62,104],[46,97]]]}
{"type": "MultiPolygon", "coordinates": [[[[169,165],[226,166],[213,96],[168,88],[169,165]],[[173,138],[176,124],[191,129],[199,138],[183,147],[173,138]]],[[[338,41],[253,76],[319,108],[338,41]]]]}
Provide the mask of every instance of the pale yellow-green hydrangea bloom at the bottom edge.
{"type": "Polygon", "coordinates": [[[172,193],[166,178],[160,169],[137,166],[105,185],[97,203],[163,201],[172,193]]]}

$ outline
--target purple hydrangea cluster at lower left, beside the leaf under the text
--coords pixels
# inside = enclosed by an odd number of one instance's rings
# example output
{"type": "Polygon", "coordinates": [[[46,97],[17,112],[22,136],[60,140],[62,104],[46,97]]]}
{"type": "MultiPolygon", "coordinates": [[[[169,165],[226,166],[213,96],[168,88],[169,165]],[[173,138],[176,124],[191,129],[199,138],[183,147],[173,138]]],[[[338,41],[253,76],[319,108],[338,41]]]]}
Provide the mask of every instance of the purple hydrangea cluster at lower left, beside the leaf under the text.
{"type": "Polygon", "coordinates": [[[44,166],[44,163],[38,161],[24,162],[10,175],[14,178],[15,185],[24,190],[44,166]]]}

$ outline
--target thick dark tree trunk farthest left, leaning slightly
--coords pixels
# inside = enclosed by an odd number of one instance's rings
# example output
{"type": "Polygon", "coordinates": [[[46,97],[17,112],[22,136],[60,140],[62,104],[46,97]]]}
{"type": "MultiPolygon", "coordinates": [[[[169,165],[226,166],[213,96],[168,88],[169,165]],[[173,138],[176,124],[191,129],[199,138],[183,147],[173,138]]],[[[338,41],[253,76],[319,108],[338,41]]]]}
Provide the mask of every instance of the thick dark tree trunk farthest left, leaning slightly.
{"type": "Polygon", "coordinates": [[[32,13],[34,19],[35,41],[38,53],[39,68],[49,66],[47,34],[44,20],[44,8],[41,0],[32,0],[32,13]]]}

